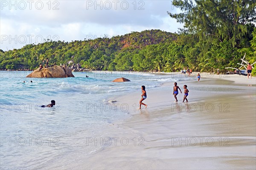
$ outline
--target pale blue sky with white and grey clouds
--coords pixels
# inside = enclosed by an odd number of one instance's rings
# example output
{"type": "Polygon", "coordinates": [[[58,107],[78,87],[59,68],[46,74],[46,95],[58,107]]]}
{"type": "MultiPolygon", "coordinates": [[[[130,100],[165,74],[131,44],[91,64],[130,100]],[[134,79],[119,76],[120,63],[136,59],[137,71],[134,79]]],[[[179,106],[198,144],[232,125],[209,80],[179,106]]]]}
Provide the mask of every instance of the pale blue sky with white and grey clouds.
{"type": "Polygon", "coordinates": [[[49,40],[71,42],[183,24],[171,0],[0,0],[0,49],[20,49],[49,40]]]}

